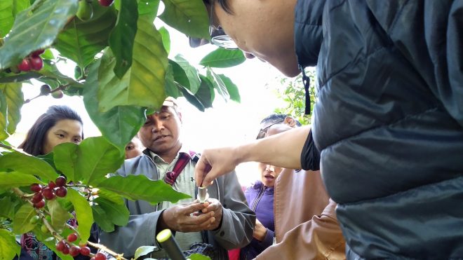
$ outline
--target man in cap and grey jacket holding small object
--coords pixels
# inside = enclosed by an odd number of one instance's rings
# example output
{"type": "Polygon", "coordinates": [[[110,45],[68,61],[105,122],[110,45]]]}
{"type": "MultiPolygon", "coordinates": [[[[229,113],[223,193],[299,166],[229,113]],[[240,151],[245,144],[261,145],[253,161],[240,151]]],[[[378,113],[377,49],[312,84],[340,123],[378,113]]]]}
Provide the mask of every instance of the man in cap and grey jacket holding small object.
{"type": "Polygon", "coordinates": [[[141,156],[126,160],[116,172],[119,175],[145,175],[162,179],[173,189],[189,194],[192,199],[179,203],[151,205],[146,201],[126,201],[130,211],[127,226],[102,233],[101,242],[124,256],[134,256],[140,246],[156,245],[149,257],[167,258],[155,240],[157,233],[169,228],[175,233],[180,248],[188,254],[199,252],[211,259],[227,259],[227,249],[243,247],[253,238],[255,214],[246,204],[235,172],[215,179],[208,187],[206,203],[194,200],[196,155],[182,146],[180,139],[182,114],[175,100],[168,98],[159,112],[147,116],[138,132],[147,147],[141,156]],[[224,185],[227,189],[224,189],[224,185]],[[198,214],[201,212],[202,214],[198,214]]]}

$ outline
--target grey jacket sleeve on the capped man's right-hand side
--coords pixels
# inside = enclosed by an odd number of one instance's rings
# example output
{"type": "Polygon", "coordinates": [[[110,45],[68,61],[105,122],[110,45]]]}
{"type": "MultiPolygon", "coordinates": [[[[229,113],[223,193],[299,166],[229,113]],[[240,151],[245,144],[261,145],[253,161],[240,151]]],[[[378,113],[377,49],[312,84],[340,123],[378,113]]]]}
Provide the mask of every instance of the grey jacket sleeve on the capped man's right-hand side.
{"type": "Polygon", "coordinates": [[[222,223],[212,231],[214,239],[224,249],[244,247],[253,239],[255,213],[246,204],[235,172],[224,175],[220,185],[223,191],[222,223]]]}

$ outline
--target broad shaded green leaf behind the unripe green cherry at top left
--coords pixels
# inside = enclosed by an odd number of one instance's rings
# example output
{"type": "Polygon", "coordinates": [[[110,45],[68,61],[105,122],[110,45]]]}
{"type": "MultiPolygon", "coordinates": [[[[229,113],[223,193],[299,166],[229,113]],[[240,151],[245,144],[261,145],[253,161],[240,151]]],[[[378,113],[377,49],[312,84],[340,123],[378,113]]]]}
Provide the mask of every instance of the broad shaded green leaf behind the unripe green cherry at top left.
{"type": "Polygon", "coordinates": [[[97,53],[108,46],[108,37],[116,23],[116,12],[93,1],[93,18],[83,22],[74,18],[58,35],[56,50],[63,57],[86,67],[97,53]]]}

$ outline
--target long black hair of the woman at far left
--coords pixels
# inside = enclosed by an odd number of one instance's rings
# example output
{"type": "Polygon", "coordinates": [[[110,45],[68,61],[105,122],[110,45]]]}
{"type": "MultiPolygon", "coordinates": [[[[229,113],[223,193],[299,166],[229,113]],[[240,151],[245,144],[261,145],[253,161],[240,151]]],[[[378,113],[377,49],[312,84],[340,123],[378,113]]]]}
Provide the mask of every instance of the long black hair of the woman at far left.
{"type": "MultiPolygon", "coordinates": [[[[79,121],[82,125],[82,119],[76,111],[67,106],[51,106],[47,111],[39,116],[32,128],[27,132],[26,139],[18,146],[26,153],[33,156],[42,155],[42,147],[45,142],[46,133],[50,128],[63,119],[79,121]]],[[[81,133],[83,138],[83,132],[81,133]]]]}

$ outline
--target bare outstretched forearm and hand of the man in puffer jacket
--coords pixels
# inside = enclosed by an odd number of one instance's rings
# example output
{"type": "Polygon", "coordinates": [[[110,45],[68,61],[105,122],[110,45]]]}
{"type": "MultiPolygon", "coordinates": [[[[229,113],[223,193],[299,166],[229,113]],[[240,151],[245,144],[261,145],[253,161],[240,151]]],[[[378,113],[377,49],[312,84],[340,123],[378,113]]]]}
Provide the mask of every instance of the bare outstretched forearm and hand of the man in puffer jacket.
{"type": "Polygon", "coordinates": [[[310,127],[304,126],[240,146],[206,149],[196,163],[196,185],[208,186],[236,165],[250,161],[300,169],[302,147],[309,132],[310,127]]]}

